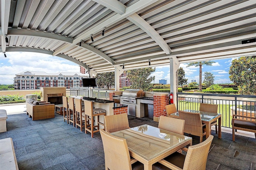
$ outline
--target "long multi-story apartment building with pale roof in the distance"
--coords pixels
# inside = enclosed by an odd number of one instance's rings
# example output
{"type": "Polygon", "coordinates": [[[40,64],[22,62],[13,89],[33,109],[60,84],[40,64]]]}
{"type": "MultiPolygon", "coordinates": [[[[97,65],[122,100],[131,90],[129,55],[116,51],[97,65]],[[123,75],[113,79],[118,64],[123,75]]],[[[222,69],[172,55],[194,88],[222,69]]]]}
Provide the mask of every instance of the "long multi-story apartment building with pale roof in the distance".
{"type": "Polygon", "coordinates": [[[76,72],[58,72],[56,74],[46,72],[26,71],[16,74],[14,77],[14,89],[31,90],[40,87],[82,87],[82,78],[88,78],[88,74],[76,72]]]}

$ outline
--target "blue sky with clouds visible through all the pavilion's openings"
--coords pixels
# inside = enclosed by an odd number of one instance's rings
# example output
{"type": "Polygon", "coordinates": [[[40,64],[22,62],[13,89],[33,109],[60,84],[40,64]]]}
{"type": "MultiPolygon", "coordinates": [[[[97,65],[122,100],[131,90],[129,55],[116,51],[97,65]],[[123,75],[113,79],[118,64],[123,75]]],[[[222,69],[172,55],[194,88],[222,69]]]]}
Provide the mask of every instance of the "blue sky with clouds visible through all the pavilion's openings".
{"type": "MultiPolygon", "coordinates": [[[[25,71],[43,71],[47,73],[57,72],[80,72],[80,67],[66,59],[53,57],[41,53],[30,52],[6,52],[0,55],[0,84],[13,84],[15,74],[25,71]]],[[[202,72],[211,72],[214,74],[214,83],[231,83],[229,79],[229,67],[233,59],[213,60],[212,66],[203,66],[202,72]]],[[[191,80],[199,80],[199,67],[186,67],[187,63],[181,63],[180,67],[185,70],[185,77],[188,82],[191,80]]],[[[156,67],[154,83],[159,83],[159,80],[165,79],[170,83],[170,66],[156,67]]],[[[202,81],[204,77],[202,77],[202,81]]]]}

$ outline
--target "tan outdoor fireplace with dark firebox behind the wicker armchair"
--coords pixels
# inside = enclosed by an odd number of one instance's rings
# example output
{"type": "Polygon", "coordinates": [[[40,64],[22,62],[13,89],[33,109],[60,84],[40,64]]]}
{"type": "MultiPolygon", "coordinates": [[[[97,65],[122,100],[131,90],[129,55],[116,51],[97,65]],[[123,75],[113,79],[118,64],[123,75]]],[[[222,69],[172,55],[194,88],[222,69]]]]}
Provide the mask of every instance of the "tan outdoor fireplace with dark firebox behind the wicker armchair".
{"type": "Polygon", "coordinates": [[[65,87],[42,87],[42,101],[50,102],[51,104],[63,104],[62,96],[66,96],[65,87]]]}

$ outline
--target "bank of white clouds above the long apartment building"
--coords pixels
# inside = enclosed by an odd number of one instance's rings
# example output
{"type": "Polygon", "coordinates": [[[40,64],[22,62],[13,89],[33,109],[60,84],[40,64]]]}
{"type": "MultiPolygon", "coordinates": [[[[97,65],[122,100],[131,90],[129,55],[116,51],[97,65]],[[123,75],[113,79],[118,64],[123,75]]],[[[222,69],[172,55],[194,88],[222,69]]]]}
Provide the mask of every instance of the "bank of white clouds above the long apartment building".
{"type": "Polygon", "coordinates": [[[6,55],[0,66],[0,84],[13,84],[15,74],[25,71],[80,72],[78,64],[56,56],[31,52],[8,52],[6,55]]]}

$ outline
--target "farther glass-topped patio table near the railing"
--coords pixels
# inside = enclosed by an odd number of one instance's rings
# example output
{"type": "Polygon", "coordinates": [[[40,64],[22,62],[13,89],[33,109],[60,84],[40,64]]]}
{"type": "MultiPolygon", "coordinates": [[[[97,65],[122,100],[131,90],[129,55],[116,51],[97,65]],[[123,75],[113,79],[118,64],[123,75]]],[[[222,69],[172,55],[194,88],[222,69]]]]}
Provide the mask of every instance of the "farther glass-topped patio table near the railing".
{"type": "MultiPolygon", "coordinates": [[[[211,134],[211,123],[218,119],[218,138],[221,139],[221,114],[220,113],[211,113],[207,111],[197,111],[186,109],[184,111],[200,113],[201,120],[203,124],[206,124],[206,139],[211,134]]],[[[170,117],[179,118],[179,112],[170,114],[170,117]]]]}

